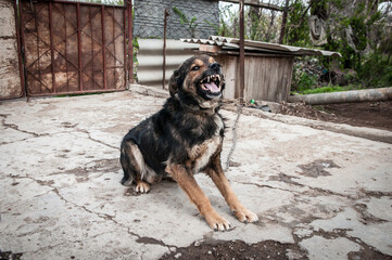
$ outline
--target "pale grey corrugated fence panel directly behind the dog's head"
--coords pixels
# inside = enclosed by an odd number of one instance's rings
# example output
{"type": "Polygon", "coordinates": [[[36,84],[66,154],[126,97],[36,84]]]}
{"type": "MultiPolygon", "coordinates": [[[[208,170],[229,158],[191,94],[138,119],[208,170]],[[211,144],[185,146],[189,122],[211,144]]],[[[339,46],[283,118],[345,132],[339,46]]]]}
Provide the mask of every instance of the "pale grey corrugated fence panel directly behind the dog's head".
{"type": "MultiPolygon", "coordinates": [[[[163,79],[163,40],[139,39],[138,82],[140,84],[162,88],[163,79]]],[[[166,87],[173,72],[188,57],[194,55],[190,48],[199,44],[185,43],[179,40],[166,41],[166,87]]]]}

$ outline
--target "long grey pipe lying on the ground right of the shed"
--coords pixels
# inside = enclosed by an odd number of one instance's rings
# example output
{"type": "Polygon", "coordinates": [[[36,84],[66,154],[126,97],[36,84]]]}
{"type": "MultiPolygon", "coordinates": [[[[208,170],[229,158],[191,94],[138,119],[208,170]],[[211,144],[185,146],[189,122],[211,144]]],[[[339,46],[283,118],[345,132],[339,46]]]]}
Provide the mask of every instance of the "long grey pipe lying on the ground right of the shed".
{"type": "Polygon", "coordinates": [[[380,89],[351,90],[343,92],[291,95],[288,102],[305,102],[308,105],[326,105],[336,103],[353,103],[366,101],[389,101],[392,100],[392,87],[380,89]]]}

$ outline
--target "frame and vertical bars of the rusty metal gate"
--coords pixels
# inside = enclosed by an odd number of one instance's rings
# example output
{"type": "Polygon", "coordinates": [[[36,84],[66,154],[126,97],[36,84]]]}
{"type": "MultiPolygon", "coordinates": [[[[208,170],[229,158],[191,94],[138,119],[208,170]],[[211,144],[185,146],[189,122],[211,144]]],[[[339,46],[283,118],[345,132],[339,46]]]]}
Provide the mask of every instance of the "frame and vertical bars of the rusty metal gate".
{"type": "Polygon", "coordinates": [[[20,75],[21,75],[21,87],[22,95],[21,98],[30,98],[30,96],[50,96],[50,95],[69,95],[69,94],[85,94],[85,93],[99,93],[99,92],[117,92],[128,89],[129,83],[134,83],[134,46],[132,46],[132,2],[131,0],[124,0],[124,5],[112,5],[112,4],[102,4],[102,3],[90,3],[90,2],[79,2],[79,1],[64,1],[64,0],[48,0],[49,4],[49,30],[50,30],[50,52],[51,52],[51,74],[52,74],[52,93],[40,93],[40,94],[30,94],[27,86],[27,68],[25,60],[25,36],[24,36],[24,21],[23,21],[23,11],[22,11],[23,0],[14,0],[14,10],[15,10],[15,20],[16,20],[16,37],[17,37],[17,52],[18,52],[18,62],[20,62],[20,75]],[[56,92],[54,84],[54,72],[53,72],[53,31],[52,31],[52,4],[53,3],[66,3],[66,4],[76,4],[77,9],[77,42],[78,42],[78,77],[79,77],[79,91],[67,91],[67,92],[56,92]],[[80,4],[81,5],[91,5],[101,8],[101,34],[102,42],[104,42],[104,8],[113,6],[123,9],[124,13],[124,88],[121,89],[109,89],[106,86],[106,61],[105,61],[105,44],[102,44],[102,63],[103,63],[103,87],[101,90],[83,90],[83,67],[81,67],[81,50],[80,50],[80,4]]]}

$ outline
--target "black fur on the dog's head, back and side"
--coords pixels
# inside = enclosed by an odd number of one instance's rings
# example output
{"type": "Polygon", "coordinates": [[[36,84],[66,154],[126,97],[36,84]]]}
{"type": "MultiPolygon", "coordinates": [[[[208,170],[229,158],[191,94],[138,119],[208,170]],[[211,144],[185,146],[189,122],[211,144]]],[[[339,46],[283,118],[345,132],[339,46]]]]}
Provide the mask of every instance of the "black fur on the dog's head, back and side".
{"type": "MultiPolygon", "coordinates": [[[[216,117],[222,120],[218,114],[220,99],[211,100],[199,88],[195,88],[195,91],[185,89],[185,80],[195,58],[208,63],[206,55],[187,60],[170,78],[170,98],[163,108],[124,136],[121,147],[123,184],[129,181],[129,178],[135,181],[138,173],[129,159],[129,143],[139,147],[144,162],[162,179],[167,174],[165,168],[168,159],[184,164],[189,159],[187,152],[189,148],[211,139],[222,127],[216,123],[216,117]],[[201,102],[204,101],[210,102],[211,107],[203,106],[201,102]]],[[[199,82],[206,76],[216,74],[222,77],[220,91],[223,91],[224,78],[218,64],[210,64],[206,69],[200,72],[194,81],[199,82]]],[[[224,136],[223,129],[219,134],[224,136]]]]}

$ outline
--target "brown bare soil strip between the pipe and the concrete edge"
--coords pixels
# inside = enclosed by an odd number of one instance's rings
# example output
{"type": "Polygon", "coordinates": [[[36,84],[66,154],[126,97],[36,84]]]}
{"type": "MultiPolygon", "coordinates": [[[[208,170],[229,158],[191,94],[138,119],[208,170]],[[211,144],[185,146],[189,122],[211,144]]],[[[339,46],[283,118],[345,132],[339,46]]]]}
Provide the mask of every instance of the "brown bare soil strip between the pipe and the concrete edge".
{"type": "Polygon", "coordinates": [[[283,103],[280,114],[392,131],[392,101],[318,106],[283,103]]]}

